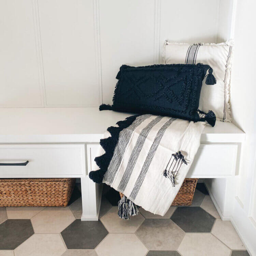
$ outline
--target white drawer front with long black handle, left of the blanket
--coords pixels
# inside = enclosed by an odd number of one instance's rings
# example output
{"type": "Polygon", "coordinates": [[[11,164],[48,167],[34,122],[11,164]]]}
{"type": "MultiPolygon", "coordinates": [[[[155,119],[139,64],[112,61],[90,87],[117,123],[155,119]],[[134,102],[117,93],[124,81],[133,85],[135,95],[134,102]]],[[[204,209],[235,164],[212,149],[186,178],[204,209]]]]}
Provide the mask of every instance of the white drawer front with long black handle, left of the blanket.
{"type": "Polygon", "coordinates": [[[85,144],[0,144],[1,176],[69,177],[85,175],[85,144]]]}

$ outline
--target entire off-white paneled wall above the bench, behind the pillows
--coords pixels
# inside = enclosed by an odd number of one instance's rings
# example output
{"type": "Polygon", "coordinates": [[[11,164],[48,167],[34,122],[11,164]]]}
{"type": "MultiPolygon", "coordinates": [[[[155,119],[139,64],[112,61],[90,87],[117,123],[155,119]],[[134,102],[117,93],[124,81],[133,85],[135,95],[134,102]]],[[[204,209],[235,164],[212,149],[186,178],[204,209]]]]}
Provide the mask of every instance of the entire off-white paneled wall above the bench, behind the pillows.
{"type": "Polygon", "coordinates": [[[119,67],[162,63],[166,39],[225,40],[230,2],[0,1],[0,107],[111,103],[119,67]]]}

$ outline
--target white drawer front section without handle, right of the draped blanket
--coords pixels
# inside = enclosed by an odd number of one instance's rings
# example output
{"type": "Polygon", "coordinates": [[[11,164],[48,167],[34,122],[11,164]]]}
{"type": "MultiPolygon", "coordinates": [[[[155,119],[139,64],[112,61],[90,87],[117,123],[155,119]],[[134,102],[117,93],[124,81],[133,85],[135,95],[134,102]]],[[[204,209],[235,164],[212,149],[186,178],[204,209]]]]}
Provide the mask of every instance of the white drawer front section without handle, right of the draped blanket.
{"type": "Polygon", "coordinates": [[[188,176],[233,175],[237,162],[237,144],[201,144],[188,176]]]}

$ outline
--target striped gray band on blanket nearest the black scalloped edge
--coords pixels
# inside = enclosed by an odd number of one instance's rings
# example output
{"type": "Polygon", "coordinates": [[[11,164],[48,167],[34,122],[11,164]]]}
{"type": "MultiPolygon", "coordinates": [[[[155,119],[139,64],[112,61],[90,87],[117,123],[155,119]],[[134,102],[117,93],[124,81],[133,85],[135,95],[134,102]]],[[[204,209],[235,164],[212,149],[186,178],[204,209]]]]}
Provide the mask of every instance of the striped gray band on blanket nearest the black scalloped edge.
{"type": "Polygon", "coordinates": [[[131,138],[132,132],[150,116],[150,114],[138,116],[129,127],[120,132],[114,155],[110,161],[108,170],[103,177],[104,183],[111,184],[113,182],[116,172],[125,154],[125,150],[131,138]]]}

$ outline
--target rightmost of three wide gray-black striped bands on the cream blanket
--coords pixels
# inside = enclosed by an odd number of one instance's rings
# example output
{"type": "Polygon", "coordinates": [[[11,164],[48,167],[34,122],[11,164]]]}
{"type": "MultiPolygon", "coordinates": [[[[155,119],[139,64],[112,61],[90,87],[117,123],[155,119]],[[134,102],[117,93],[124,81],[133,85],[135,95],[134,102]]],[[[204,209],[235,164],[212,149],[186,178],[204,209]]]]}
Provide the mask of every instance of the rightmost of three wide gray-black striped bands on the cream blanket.
{"type": "Polygon", "coordinates": [[[160,141],[161,141],[161,139],[162,139],[162,137],[163,137],[163,134],[165,134],[166,129],[171,125],[171,123],[172,123],[175,119],[176,119],[176,118],[170,118],[170,119],[161,127],[161,129],[158,131],[157,136],[155,137],[155,140],[154,140],[153,144],[151,145],[150,150],[148,151],[148,154],[147,154],[146,160],[145,160],[145,162],[144,162],[144,164],[143,164],[143,167],[142,167],[142,169],[141,169],[140,175],[139,175],[139,177],[138,177],[138,179],[137,179],[137,181],[136,181],[136,183],[135,183],[135,185],[134,185],[134,187],[133,187],[133,189],[132,189],[132,192],[131,192],[131,194],[130,194],[130,196],[129,196],[129,199],[130,199],[131,201],[133,201],[133,200],[137,197],[137,195],[138,195],[138,193],[139,193],[139,190],[140,190],[140,188],[141,188],[141,185],[142,185],[142,183],[143,183],[143,181],[144,181],[144,179],[145,179],[145,176],[146,176],[146,174],[147,174],[148,168],[150,167],[150,164],[151,164],[151,162],[152,162],[152,160],[153,160],[153,157],[154,157],[154,155],[155,155],[155,153],[156,153],[156,150],[157,150],[157,148],[158,148],[158,145],[159,145],[159,143],[160,143],[160,141]]]}

